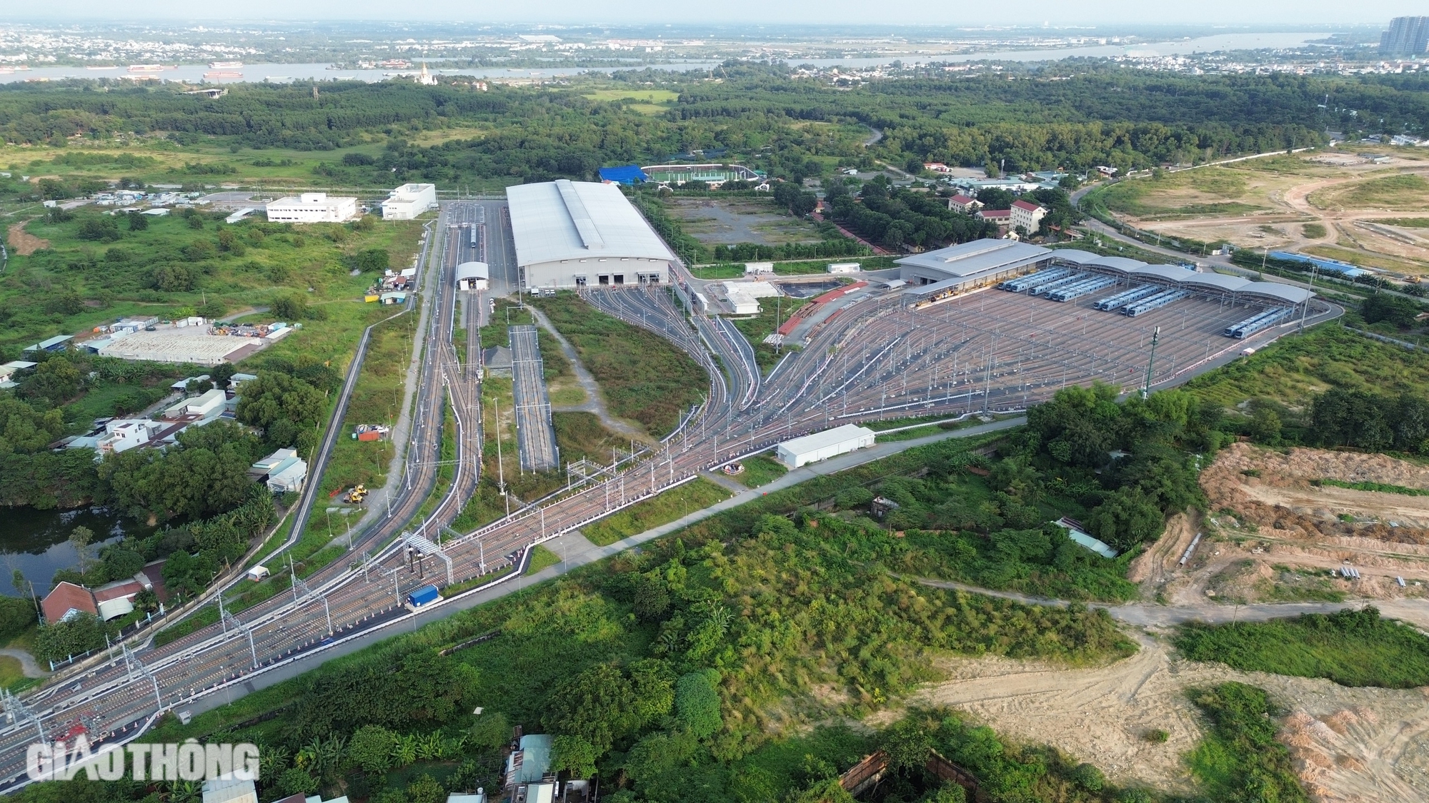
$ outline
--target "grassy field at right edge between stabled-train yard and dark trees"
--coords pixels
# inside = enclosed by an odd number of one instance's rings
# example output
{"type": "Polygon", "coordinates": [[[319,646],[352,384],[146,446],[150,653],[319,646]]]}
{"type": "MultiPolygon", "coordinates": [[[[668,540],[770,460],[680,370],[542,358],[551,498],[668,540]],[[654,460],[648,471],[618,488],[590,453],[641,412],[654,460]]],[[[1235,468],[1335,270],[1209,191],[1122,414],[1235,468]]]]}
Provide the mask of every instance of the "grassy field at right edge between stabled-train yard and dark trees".
{"type": "Polygon", "coordinates": [[[1332,386],[1429,393],[1429,354],[1379,343],[1339,326],[1319,326],[1282,337],[1185,387],[1203,400],[1233,407],[1256,397],[1299,406],[1332,386]]]}

